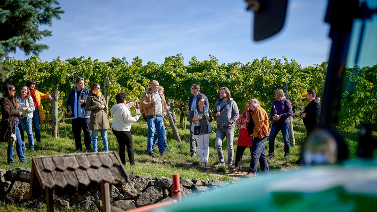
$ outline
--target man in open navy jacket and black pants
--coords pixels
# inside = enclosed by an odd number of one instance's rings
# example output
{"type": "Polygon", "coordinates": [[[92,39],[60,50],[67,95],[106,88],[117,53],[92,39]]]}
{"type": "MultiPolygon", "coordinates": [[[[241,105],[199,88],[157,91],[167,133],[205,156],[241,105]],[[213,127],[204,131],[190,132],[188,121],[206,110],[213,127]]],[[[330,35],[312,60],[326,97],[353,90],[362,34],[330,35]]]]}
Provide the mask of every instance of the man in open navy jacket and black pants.
{"type": "Polygon", "coordinates": [[[76,78],[76,87],[69,92],[67,99],[67,112],[72,116],[72,132],[76,151],[82,151],[81,129],[84,132],[85,151],[91,151],[90,147],[90,111],[86,110],[86,100],[89,89],[85,88],[84,78],[76,78]]]}

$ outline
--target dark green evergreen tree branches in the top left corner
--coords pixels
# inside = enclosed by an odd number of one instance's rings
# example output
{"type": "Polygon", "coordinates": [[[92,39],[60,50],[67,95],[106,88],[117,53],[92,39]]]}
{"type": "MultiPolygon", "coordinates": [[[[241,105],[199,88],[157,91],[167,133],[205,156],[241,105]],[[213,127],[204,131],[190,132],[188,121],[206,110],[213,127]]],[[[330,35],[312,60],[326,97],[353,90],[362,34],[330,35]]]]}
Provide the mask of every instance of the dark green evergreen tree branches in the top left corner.
{"type": "Polygon", "coordinates": [[[0,0],[0,79],[5,80],[9,67],[2,61],[17,47],[26,55],[38,55],[49,47],[36,42],[51,36],[50,30],[39,30],[41,25],[52,26],[52,19],[60,19],[58,0],[0,0]]]}

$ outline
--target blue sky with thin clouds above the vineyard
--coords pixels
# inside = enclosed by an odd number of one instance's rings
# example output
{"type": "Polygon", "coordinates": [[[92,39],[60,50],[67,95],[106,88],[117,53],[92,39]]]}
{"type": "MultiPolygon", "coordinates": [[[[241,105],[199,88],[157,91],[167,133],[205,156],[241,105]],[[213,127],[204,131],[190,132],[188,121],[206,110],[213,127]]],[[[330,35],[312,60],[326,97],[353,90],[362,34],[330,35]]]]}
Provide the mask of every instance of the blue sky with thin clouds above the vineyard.
{"type": "MultiPolygon", "coordinates": [[[[245,0],[60,0],[65,11],[47,27],[53,36],[38,43],[50,49],[43,61],[60,57],[91,57],[110,61],[138,56],[143,64],[162,64],[182,53],[185,65],[192,56],[219,64],[252,62],[266,56],[295,59],[303,67],[328,59],[329,24],[324,23],[327,0],[289,0],[285,25],[263,41],[252,40],[252,11],[245,0]]],[[[44,28],[42,28],[44,29],[44,28]]],[[[21,51],[9,54],[28,56],[21,51]]]]}

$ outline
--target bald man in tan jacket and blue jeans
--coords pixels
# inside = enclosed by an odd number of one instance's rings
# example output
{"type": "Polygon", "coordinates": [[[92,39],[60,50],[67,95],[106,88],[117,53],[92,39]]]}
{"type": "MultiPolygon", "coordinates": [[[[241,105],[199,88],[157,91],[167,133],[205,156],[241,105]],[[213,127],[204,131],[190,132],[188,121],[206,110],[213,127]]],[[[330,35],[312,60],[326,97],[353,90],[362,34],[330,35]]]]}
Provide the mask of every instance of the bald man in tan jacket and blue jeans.
{"type": "Polygon", "coordinates": [[[161,156],[165,155],[165,126],[164,126],[164,116],[166,115],[166,102],[165,96],[162,92],[158,90],[160,84],[153,80],[150,83],[150,89],[145,91],[141,95],[141,107],[145,110],[145,115],[148,124],[148,144],[147,151],[148,155],[152,158],[155,157],[153,154],[153,137],[154,129],[156,128],[158,137],[158,149],[161,156]]]}

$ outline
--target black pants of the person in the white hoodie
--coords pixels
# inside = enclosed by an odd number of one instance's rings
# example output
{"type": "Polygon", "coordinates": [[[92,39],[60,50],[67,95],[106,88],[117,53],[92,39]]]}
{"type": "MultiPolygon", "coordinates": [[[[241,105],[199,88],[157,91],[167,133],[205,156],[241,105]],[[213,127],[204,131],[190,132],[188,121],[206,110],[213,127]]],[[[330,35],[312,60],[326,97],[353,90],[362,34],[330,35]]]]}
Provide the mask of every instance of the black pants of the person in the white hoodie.
{"type": "Polygon", "coordinates": [[[126,164],[126,147],[127,147],[127,154],[129,163],[131,165],[135,164],[135,160],[133,159],[133,142],[132,136],[130,131],[117,131],[113,129],[113,133],[115,137],[117,137],[118,144],[119,144],[119,158],[123,164],[126,164]]]}

